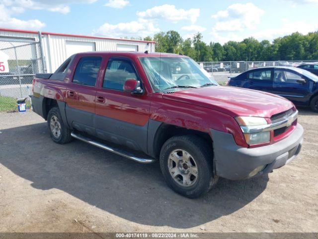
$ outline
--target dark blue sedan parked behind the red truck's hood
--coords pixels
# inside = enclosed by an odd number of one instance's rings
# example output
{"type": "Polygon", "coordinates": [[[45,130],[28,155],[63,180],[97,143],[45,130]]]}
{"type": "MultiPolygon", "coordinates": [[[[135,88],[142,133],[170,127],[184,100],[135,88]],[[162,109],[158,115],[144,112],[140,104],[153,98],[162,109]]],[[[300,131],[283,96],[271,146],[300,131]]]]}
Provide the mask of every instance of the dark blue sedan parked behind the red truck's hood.
{"type": "Polygon", "coordinates": [[[300,68],[260,67],[231,77],[228,85],[283,96],[318,112],[318,76],[300,68]]]}

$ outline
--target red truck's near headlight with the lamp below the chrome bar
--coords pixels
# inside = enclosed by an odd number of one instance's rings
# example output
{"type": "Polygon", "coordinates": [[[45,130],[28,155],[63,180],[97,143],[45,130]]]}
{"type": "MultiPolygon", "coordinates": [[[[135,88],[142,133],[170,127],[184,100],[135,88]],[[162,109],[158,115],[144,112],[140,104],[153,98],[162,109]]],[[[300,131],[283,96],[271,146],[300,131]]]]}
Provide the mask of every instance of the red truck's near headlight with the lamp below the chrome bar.
{"type": "Polygon", "coordinates": [[[247,133],[243,130],[243,128],[249,128],[248,126],[266,125],[267,121],[265,118],[243,116],[235,119],[238,121],[239,126],[241,126],[242,131],[244,132],[244,138],[247,144],[267,143],[270,141],[270,131],[247,133]]]}

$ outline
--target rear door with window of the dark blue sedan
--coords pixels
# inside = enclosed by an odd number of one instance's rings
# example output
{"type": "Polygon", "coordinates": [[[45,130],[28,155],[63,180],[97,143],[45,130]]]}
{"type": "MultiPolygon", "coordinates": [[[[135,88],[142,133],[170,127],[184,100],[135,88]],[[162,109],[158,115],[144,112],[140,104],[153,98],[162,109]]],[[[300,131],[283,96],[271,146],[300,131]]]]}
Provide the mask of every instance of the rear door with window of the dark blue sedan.
{"type": "Polygon", "coordinates": [[[271,93],[273,90],[272,70],[268,68],[248,72],[244,88],[271,93]]]}

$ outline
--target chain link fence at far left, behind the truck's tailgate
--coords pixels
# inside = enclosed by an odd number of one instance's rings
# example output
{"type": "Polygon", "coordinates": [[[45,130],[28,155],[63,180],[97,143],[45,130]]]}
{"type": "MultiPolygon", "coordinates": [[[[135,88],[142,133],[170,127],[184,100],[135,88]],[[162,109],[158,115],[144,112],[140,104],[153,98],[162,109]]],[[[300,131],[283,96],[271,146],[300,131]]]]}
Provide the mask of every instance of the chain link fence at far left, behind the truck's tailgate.
{"type": "Polygon", "coordinates": [[[32,79],[43,73],[40,43],[0,38],[0,112],[17,111],[17,99],[30,108],[32,79]]]}

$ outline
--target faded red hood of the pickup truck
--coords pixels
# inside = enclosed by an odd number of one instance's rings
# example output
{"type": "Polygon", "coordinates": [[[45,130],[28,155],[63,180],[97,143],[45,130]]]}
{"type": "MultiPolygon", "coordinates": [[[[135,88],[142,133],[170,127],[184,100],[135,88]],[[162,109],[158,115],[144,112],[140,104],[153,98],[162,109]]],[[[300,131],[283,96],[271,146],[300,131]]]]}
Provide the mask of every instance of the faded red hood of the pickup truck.
{"type": "Polygon", "coordinates": [[[294,107],[283,97],[229,86],[210,86],[164,94],[164,99],[202,106],[233,117],[272,115],[294,107]]]}

